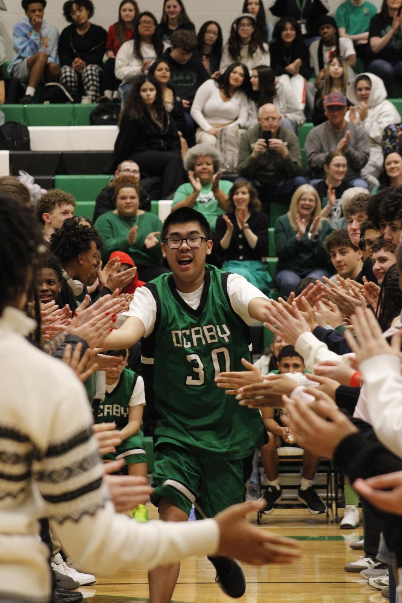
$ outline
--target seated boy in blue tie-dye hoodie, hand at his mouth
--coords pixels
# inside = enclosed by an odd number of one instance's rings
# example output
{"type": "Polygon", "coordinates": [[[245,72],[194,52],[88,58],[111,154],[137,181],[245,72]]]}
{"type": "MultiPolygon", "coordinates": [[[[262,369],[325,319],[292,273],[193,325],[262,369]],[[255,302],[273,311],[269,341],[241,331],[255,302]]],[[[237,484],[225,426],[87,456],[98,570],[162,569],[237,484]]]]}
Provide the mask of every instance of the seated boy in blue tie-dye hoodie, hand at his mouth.
{"type": "Polygon", "coordinates": [[[14,55],[8,73],[22,84],[28,84],[21,104],[33,102],[42,78],[57,81],[60,75],[57,56],[58,31],[43,19],[46,0],[22,0],[25,17],[13,27],[14,55]]]}

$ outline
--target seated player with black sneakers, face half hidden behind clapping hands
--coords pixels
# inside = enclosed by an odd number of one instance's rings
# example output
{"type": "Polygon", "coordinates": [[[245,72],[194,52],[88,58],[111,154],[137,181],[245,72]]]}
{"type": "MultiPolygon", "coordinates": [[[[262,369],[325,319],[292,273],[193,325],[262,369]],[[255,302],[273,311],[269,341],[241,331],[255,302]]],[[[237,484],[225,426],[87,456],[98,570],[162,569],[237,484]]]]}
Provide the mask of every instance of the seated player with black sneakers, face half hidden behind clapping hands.
{"type": "MultiPolygon", "coordinates": [[[[294,346],[283,347],[278,354],[278,370],[272,373],[289,374],[305,373],[304,359],[296,352],[294,346]]],[[[263,421],[269,435],[269,442],[260,448],[261,461],[268,478],[268,488],[263,493],[266,507],[262,513],[269,515],[274,510],[274,505],[280,501],[282,490],[279,484],[278,470],[279,458],[277,448],[280,446],[292,446],[294,438],[288,427],[281,422],[281,408],[262,408],[263,421]]],[[[296,444],[297,445],[297,444],[296,444]]],[[[303,472],[298,490],[298,500],[307,505],[307,509],[313,515],[325,513],[326,505],[322,502],[313,488],[313,479],[318,468],[319,458],[307,450],[303,453],[303,472]]]]}

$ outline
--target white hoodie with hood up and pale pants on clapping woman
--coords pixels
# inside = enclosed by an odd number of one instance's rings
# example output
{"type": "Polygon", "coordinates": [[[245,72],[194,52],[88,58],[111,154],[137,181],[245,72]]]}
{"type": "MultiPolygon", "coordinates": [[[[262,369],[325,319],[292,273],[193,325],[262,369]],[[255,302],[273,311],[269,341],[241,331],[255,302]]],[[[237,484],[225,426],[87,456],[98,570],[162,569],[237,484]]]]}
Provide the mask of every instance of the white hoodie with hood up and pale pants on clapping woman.
{"type": "MultiPolygon", "coordinates": [[[[389,124],[399,123],[401,117],[395,106],[386,100],[387,92],[383,80],[378,75],[369,73],[356,75],[346,90],[348,101],[355,107],[359,104],[356,96],[356,83],[362,78],[362,75],[366,75],[371,80],[371,92],[367,101],[367,117],[360,123],[370,139],[370,156],[367,165],[362,169],[362,177],[372,175],[377,178],[383,165],[381,147],[383,129],[389,124]]],[[[359,110],[356,110],[356,113],[359,115],[359,110]]],[[[350,121],[349,111],[345,119],[350,121]]]]}

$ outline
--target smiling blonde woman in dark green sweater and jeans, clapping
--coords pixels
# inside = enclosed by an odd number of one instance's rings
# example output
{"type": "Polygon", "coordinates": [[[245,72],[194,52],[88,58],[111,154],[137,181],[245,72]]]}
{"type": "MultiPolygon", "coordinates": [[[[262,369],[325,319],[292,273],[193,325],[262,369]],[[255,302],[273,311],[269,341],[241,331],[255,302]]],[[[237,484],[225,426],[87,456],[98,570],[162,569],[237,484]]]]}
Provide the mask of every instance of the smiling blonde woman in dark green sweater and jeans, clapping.
{"type": "Polygon", "coordinates": [[[281,297],[289,297],[304,277],[331,276],[330,257],[324,239],[331,232],[327,219],[320,217],[321,201],[315,188],[302,185],[294,192],[289,212],[275,223],[278,256],[275,282],[281,297]]]}

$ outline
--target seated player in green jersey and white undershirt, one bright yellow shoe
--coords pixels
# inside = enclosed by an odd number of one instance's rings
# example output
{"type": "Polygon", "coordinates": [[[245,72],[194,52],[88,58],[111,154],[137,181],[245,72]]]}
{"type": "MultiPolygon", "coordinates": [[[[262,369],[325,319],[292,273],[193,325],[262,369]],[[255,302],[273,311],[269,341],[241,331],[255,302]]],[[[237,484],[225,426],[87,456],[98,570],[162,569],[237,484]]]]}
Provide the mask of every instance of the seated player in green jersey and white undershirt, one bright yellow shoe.
{"type": "MultiPolygon", "coordinates": [[[[144,435],[141,429],[142,412],[145,405],[144,383],[140,375],[128,368],[128,350],[108,350],[108,356],[124,359],[120,367],[106,371],[106,393],[99,405],[96,423],[115,421],[122,443],[115,452],[104,455],[104,459],[115,461],[124,458],[128,475],[145,477],[147,474],[144,435]]],[[[139,522],[148,520],[148,511],[144,505],[133,510],[133,517],[139,522]]]]}

